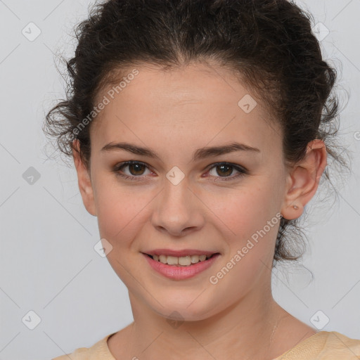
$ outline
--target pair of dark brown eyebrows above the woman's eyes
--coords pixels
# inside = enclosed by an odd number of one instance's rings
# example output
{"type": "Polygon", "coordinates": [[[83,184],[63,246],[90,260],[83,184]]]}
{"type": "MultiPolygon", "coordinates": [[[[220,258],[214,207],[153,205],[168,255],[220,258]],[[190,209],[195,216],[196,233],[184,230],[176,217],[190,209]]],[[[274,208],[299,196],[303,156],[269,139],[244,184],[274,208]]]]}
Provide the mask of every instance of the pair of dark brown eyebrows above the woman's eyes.
{"type": "MultiPolygon", "coordinates": [[[[150,148],[143,148],[141,146],[136,146],[131,143],[108,143],[103,146],[101,151],[113,151],[113,150],[126,150],[130,153],[134,153],[136,155],[148,156],[149,158],[156,158],[160,160],[160,156],[150,148]]],[[[199,148],[195,150],[193,153],[193,161],[210,158],[212,156],[224,155],[228,153],[233,153],[234,151],[248,151],[250,153],[261,153],[258,148],[252,148],[252,146],[245,145],[243,143],[229,143],[223,146],[213,146],[213,147],[205,147],[199,148]]]]}

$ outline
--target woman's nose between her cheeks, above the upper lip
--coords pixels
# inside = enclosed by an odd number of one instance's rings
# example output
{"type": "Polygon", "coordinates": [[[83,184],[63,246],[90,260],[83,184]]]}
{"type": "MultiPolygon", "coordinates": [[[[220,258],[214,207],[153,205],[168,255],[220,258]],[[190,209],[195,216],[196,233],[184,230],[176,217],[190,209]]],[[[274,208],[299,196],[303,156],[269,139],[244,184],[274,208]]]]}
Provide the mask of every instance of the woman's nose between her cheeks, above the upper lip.
{"type": "Polygon", "coordinates": [[[203,203],[188,186],[186,177],[179,184],[165,181],[155,203],[152,224],[171,236],[185,236],[204,225],[203,203]]]}

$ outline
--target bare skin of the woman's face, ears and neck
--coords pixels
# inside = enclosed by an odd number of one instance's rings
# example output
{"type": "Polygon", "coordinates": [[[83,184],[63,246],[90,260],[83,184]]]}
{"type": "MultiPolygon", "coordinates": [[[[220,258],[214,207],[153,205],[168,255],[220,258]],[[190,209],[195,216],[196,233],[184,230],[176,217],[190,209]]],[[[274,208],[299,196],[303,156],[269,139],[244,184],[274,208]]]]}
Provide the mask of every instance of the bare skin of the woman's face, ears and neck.
{"type": "Polygon", "coordinates": [[[248,114],[239,108],[243,96],[255,95],[230,70],[205,63],[171,71],[149,64],[136,69],[139,75],[91,124],[90,169],[76,151],[77,141],[73,151],[84,206],[98,217],[101,238],[113,246],[108,261],[129,290],[134,316],[108,339],[110,352],[115,359],[168,359],[169,354],[190,360],[274,359],[316,333],[271,294],[280,222],[217,284],[209,278],[277,213],[300,217],[326,167],[326,146],[311,141],[304,160],[286,167],[281,129],[271,124],[261,99],[248,114]],[[151,148],[160,159],[101,151],[119,141],[151,148]],[[233,141],[260,151],[191,160],[198,148],[233,141]],[[128,160],[146,163],[122,168],[141,181],[113,171],[128,160]],[[235,168],[221,172],[212,167],[215,162],[245,167],[248,174],[235,178],[235,168]],[[166,177],[174,166],[185,176],[177,185],[166,177]],[[226,176],[233,179],[221,180],[226,176]],[[155,273],[143,258],[141,252],[155,248],[212,250],[221,256],[203,273],[175,281],[155,273]],[[167,321],[173,311],[184,320],[177,328],[167,321]]]}

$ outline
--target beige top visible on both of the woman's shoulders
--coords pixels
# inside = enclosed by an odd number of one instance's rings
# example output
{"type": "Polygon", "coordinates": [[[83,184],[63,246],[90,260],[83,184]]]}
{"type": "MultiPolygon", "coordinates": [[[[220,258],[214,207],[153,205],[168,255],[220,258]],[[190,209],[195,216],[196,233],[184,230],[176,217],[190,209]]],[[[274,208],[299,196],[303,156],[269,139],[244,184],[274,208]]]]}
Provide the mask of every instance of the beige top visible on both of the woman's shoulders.
{"type": "MultiPolygon", "coordinates": [[[[116,360],[108,348],[108,338],[90,348],[80,347],[71,354],[52,360],[116,360]],[[70,356],[70,358],[68,357],[70,356]]],[[[360,340],[347,338],[336,331],[320,331],[288,350],[274,360],[357,360],[360,359],[360,340]]],[[[118,359],[120,360],[120,359],[118,359]]]]}

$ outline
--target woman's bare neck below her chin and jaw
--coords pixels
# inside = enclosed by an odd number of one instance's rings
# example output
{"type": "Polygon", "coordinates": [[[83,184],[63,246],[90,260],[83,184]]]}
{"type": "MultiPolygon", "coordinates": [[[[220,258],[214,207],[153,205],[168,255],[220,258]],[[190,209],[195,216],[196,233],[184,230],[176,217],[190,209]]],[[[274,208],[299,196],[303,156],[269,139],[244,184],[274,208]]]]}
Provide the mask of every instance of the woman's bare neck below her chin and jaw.
{"type": "Polygon", "coordinates": [[[122,354],[119,359],[274,359],[287,349],[274,343],[288,313],[276,304],[270,289],[207,319],[179,323],[156,314],[131,293],[129,297],[134,322],[122,330],[126,341],[113,347],[113,354],[122,354]]]}

